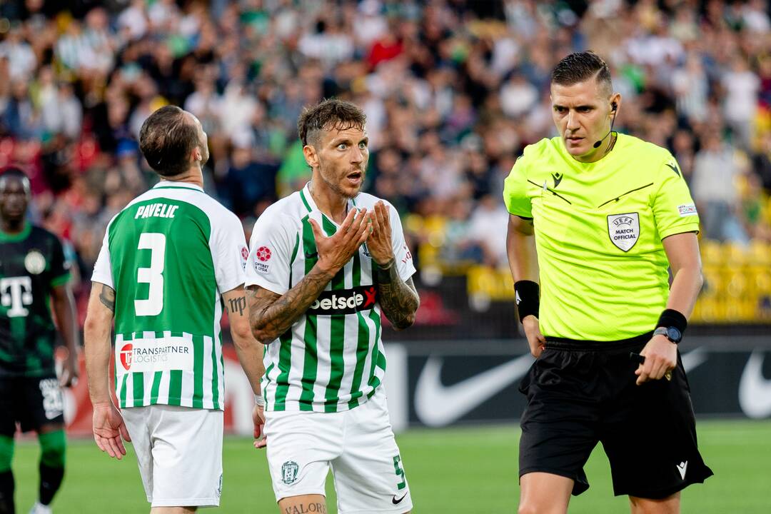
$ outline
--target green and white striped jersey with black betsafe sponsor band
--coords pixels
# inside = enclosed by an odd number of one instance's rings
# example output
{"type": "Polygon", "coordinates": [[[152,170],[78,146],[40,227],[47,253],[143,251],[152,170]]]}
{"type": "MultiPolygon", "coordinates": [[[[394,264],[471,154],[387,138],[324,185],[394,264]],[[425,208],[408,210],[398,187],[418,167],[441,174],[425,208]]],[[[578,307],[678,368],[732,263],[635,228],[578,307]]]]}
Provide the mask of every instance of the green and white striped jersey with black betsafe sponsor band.
{"type": "MultiPolygon", "coordinates": [[[[360,193],[348,208],[372,210],[378,198],[360,193]]],[[[388,204],[399,275],[415,273],[396,209],[388,204]]],[[[268,207],[254,223],[246,285],[284,294],[316,264],[313,230],[327,236],[338,225],[315,206],[306,185],[268,207]]],[[[380,304],[366,244],[359,247],[291,329],[265,348],[262,391],[268,411],[339,412],[362,405],[385,375],[380,304]]]]}

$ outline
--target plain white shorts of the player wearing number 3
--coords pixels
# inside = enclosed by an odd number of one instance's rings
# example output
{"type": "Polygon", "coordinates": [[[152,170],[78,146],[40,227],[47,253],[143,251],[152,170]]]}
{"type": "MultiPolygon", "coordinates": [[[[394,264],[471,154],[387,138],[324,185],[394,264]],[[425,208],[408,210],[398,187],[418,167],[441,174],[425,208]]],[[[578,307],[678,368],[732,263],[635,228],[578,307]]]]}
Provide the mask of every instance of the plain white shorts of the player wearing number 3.
{"type": "Polygon", "coordinates": [[[222,411],[150,405],[121,414],[153,507],[220,505],[222,411]]]}

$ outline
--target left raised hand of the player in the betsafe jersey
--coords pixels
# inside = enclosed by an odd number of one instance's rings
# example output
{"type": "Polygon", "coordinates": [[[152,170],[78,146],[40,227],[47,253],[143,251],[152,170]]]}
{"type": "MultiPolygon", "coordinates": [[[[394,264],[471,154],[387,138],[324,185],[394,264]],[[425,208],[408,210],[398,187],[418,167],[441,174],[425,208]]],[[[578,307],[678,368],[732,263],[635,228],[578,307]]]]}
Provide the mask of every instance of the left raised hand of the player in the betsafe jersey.
{"type": "Polygon", "coordinates": [[[369,237],[369,223],[365,209],[352,209],[342,225],[331,237],[326,237],[321,227],[315,220],[308,220],[313,229],[313,237],[316,240],[318,250],[318,266],[331,274],[336,274],[348,260],[351,260],[355,251],[369,237]]]}

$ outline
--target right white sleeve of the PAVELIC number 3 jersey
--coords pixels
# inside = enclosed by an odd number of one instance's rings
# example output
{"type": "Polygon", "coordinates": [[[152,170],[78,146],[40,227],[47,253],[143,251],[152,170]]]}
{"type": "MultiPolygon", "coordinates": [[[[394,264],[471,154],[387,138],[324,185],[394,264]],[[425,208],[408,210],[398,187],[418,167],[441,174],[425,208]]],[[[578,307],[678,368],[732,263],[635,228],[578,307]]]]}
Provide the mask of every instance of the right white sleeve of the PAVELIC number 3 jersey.
{"type": "Polygon", "coordinates": [[[214,232],[211,257],[214,260],[214,278],[220,294],[243,285],[244,267],[248,256],[244,227],[235,214],[228,212],[214,232]]]}

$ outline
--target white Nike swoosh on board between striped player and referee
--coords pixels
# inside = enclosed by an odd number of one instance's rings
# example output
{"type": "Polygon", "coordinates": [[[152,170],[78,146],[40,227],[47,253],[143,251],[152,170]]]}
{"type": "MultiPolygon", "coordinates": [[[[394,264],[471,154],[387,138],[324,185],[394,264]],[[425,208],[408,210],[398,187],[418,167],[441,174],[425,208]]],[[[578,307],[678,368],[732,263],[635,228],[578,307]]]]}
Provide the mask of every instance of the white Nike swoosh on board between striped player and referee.
{"type": "Polygon", "coordinates": [[[426,425],[448,425],[517,381],[532,364],[533,357],[525,354],[457,384],[445,386],[440,378],[442,359],[429,357],[416,386],[416,414],[426,425]]]}

